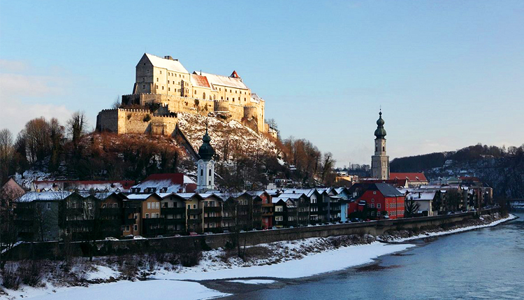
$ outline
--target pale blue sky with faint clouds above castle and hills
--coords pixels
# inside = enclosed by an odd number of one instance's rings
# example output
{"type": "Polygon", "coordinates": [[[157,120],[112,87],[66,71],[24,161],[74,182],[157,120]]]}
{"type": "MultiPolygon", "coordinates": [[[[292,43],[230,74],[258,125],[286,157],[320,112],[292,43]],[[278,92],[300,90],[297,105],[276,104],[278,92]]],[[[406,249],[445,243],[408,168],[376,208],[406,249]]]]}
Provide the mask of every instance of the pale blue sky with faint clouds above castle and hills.
{"type": "Polygon", "coordinates": [[[281,136],[370,164],[524,143],[524,1],[3,1],[0,128],[131,94],[144,52],[236,70],[281,136]]]}

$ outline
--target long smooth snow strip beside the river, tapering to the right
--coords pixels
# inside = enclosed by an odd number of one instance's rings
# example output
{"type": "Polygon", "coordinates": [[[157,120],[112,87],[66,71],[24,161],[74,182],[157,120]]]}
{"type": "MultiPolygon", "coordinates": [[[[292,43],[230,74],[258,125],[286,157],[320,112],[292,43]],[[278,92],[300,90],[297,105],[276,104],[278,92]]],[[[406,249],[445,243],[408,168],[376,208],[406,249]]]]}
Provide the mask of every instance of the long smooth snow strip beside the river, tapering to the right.
{"type": "Polygon", "coordinates": [[[159,271],[152,278],[174,280],[213,280],[228,278],[301,278],[321,273],[340,271],[351,266],[373,262],[373,259],[414,247],[408,244],[385,244],[374,242],[368,245],[354,245],[335,250],[307,255],[303,259],[293,259],[279,264],[265,266],[250,266],[233,269],[222,269],[208,272],[176,273],[174,271],[159,271]]]}

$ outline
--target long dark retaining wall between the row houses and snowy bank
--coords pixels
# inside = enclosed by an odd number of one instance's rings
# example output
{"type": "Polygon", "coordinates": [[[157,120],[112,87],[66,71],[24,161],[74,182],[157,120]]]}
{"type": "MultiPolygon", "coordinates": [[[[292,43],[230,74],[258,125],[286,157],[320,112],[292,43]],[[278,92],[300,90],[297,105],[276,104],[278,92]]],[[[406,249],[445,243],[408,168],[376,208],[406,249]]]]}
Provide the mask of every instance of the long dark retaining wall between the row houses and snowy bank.
{"type": "MultiPolygon", "coordinates": [[[[483,210],[482,215],[499,212],[497,208],[483,210]]],[[[349,234],[372,234],[377,236],[388,230],[414,229],[432,225],[452,224],[472,219],[478,213],[458,213],[454,215],[437,215],[432,217],[414,217],[396,220],[381,220],[348,224],[333,224],[291,229],[273,229],[263,231],[248,231],[240,233],[240,241],[246,239],[246,245],[272,243],[276,241],[291,241],[301,238],[342,236],[349,234]]],[[[191,249],[200,245],[210,248],[224,247],[232,241],[232,234],[210,234],[204,236],[180,236],[166,238],[148,238],[143,240],[96,241],[96,256],[140,254],[148,252],[176,252],[180,249],[191,249]]],[[[10,259],[26,259],[31,257],[54,258],[64,248],[73,256],[87,256],[87,243],[75,242],[68,245],[59,242],[22,243],[10,251],[10,259]]]]}

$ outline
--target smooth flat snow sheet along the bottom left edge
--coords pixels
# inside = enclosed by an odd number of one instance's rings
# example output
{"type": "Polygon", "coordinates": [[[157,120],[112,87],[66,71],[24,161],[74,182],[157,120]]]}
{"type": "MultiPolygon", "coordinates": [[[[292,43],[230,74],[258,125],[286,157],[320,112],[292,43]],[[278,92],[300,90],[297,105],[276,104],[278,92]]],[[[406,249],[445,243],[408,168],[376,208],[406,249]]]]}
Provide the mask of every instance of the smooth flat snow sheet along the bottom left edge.
{"type": "MultiPolygon", "coordinates": [[[[10,295],[24,295],[24,299],[35,300],[105,300],[105,299],[212,299],[229,294],[210,290],[199,283],[177,280],[119,281],[89,287],[60,287],[57,289],[27,288],[24,291],[9,291],[10,295]],[[56,292],[54,292],[56,291],[56,292]],[[171,295],[171,297],[169,297],[171,295]]],[[[0,297],[1,299],[1,297],[0,297]]],[[[8,298],[10,299],[10,298],[8,298]]],[[[16,298],[15,298],[16,299],[16,298]]]]}

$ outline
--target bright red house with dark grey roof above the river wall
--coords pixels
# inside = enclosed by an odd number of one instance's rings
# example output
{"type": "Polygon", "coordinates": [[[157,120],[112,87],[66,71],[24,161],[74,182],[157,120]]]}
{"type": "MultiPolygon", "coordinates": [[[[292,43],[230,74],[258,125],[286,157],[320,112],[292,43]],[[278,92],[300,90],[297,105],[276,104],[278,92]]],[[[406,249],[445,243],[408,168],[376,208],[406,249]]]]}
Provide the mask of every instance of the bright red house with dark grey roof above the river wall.
{"type": "Polygon", "coordinates": [[[404,194],[386,183],[373,183],[358,198],[368,208],[377,208],[377,215],[388,215],[390,219],[404,217],[404,199],[404,194]]]}

